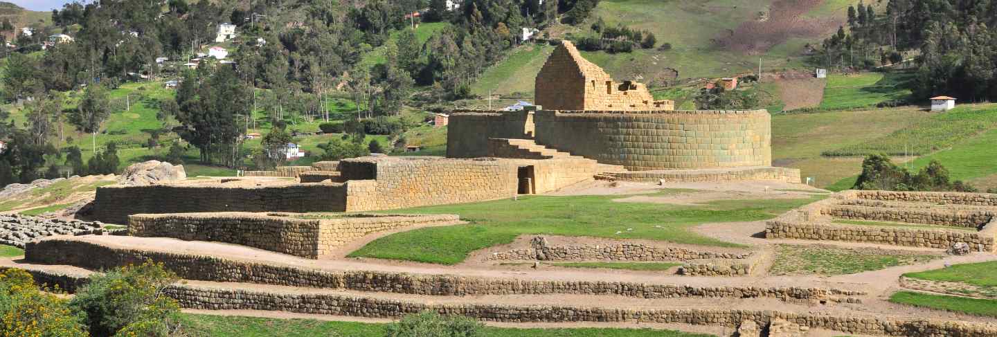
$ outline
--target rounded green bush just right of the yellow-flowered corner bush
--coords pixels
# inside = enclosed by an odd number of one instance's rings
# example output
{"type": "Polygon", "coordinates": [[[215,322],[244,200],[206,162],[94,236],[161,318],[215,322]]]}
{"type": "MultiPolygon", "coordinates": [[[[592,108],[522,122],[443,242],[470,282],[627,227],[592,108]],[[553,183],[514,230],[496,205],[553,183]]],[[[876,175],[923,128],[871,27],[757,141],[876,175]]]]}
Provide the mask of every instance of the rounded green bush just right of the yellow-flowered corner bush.
{"type": "Polygon", "coordinates": [[[86,314],[94,336],[168,336],[179,305],[163,290],[176,280],[162,263],[129,265],[91,276],[70,306],[86,314]]]}

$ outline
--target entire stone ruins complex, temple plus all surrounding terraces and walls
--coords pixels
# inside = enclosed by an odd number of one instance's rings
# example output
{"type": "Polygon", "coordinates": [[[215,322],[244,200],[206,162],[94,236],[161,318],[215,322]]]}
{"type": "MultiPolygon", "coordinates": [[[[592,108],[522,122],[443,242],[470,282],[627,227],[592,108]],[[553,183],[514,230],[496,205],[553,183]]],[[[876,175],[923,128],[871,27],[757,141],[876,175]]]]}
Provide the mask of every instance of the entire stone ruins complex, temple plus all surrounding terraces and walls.
{"type": "Polygon", "coordinates": [[[432,310],[486,322],[721,336],[997,336],[992,317],[897,309],[885,299],[896,289],[943,291],[905,272],[990,258],[997,194],[826,193],[801,183],[798,169],[773,167],[765,110],[675,110],[643,84],[615,81],[569,42],[536,75],[535,103],[522,111],[453,112],[446,158],[366,157],[101,186],[92,216],[126,224],[126,231],[36,239],[26,243],[23,260],[3,266],[73,290],[92,273],[153,259],[183,279],[167,292],[188,309],[392,319],[432,310]],[[694,239],[687,241],[635,238],[621,223],[609,237],[539,229],[449,266],[350,257],[387,235],[479,220],[403,208],[571,193],[617,193],[621,209],[637,198],[662,203],[660,212],[676,204],[724,209],[749,198],[814,200],[769,220],[746,212],[753,218],[710,223],[714,210],[703,210],[694,226],[651,229],[688,230],[694,239]],[[841,275],[777,272],[794,263],[786,251],[814,246],[919,260],[841,275]],[[960,255],[946,255],[953,246],[960,255]]]}

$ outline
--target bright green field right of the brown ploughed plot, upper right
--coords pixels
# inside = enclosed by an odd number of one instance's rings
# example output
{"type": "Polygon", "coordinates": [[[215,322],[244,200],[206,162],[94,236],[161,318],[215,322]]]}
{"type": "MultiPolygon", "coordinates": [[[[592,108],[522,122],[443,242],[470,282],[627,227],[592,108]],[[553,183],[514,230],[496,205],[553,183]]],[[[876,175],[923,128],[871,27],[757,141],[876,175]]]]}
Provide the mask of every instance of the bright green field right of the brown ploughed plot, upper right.
{"type": "Polygon", "coordinates": [[[905,73],[861,73],[858,75],[828,76],[821,109],[840,110],[873,107],[876,104],[904,100],[910,90],[900,85],[910,79],[905,73]]]}

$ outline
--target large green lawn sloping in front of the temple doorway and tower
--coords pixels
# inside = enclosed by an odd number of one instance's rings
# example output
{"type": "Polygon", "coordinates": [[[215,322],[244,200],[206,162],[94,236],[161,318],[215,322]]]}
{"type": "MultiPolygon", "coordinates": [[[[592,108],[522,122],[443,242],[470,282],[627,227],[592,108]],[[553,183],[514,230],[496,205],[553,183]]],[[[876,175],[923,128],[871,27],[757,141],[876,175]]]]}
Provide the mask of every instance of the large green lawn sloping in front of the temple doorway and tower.
{"type": "Polygon", "coordinates": [[[520,234],[648,238],[680,243],[738,246],[694,233],[707,222],[772,218],[807,199],[724,200],[702,206],[615,202],[619,195],[521,196],[518,200],[418,207],[393,212],[456,213],[468,224],[428,227],[378,238],[350,253],[429,263],[456,264],[472,251],[512,242],[520,234]]]}

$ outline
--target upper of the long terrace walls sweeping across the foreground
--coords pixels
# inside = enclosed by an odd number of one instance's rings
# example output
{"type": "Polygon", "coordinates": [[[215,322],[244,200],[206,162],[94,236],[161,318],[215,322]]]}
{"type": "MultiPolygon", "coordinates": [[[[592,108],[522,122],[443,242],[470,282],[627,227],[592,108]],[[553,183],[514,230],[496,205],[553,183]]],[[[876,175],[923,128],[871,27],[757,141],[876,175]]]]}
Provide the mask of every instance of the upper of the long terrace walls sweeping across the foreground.
{"type": "Polygon", "coordinates": [[[224,258],[112,248],[72,238],[52,238],[28,245],[25,259],[33,263],[69,264],[101,270],[147,259],[163,262],[184,279],[273,284],[419,295],[586,294],[637,298],[778,298],[786,301],[856,302],[862,292],[826,288],[755,287],[649,284],[607,281],[521,280],[444,274],[380,271],[325,271],[290,265],[237,261],[224,258]]]}

